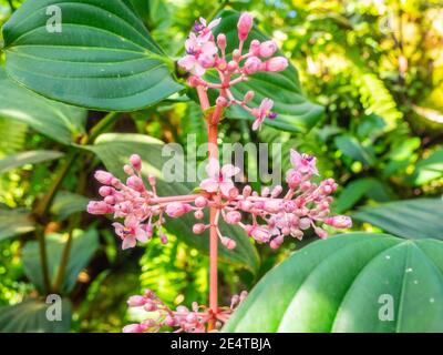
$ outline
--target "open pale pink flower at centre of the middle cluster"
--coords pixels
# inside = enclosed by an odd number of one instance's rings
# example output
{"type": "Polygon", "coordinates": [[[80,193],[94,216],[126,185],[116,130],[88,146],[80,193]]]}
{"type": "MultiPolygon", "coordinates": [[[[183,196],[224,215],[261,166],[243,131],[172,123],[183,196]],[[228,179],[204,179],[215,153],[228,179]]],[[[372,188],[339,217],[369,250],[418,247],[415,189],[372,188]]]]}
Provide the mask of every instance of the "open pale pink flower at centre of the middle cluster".
{"type": "Polygon", "coordinates": [[[230,180],[231,176],[239,173],[239,169],[227,164],[222,168],[216,159],[209,159],[209,163],[206,166],[208,179],[205,179],[200,183],[200,187],[206,192],[220,191],[225,196],[229,196],[229,191],[235,187],[234,182],[230,180]]]}

